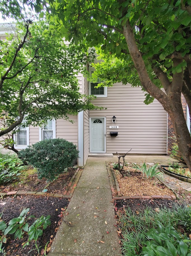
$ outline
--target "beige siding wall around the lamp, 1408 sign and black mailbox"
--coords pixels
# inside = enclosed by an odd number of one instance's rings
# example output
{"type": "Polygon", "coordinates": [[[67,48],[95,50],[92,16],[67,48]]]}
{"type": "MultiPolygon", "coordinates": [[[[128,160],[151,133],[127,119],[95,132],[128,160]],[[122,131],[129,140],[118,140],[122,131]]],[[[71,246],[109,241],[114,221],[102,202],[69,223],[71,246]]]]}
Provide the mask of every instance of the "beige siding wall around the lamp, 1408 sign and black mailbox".
{"type": "Polygon", "coordinates": [[[90,110],[90,117],[106,117],[106,152],[134,154],[166,154],[167,115],[162,105],[154,100],[144,104],[145,93],[139,87],[117,83],[107,88],[107,98],[96,98],[93,103],[107,110],[90,110]],[[109,129],[112,117],[119,129],[109,129]],[[111,137],[110,132],[118,132],[111,137]]]}

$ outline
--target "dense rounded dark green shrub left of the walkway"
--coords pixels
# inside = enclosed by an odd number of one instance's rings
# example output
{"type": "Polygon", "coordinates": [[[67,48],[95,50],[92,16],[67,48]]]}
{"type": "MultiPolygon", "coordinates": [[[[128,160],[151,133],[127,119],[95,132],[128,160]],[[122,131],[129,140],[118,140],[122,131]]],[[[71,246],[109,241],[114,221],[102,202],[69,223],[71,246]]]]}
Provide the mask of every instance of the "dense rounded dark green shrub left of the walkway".
{"type": "Polygon", "coordinates": [[[72,166],[79,151],[76,145],[65,139],[49,139],[39,141],[18,153],[22,161],[37,168],[38,178],[53,181],[65,169],[72,166]]]}

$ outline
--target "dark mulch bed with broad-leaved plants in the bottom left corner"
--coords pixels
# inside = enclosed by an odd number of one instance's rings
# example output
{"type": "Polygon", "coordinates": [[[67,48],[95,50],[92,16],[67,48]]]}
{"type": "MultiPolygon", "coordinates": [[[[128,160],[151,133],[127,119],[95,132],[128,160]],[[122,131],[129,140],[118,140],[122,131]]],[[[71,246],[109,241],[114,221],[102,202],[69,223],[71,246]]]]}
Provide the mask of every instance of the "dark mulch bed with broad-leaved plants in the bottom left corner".
{"type": "MultiPolygon", "coordinates": [[[[7,226],[15,225],[23,209],[27,211],[26,217],[25,213],[23,215],[23,217],[25,217],[24,223],[18,223],[21,225],[20,229],[22,229],[23,233],[21,238],[15,236],[16,232],[6,234],[6,243],[3,243],[6,255],[37,256],[41,255],[41,252],[42,255],[45,255],[44,251],[46,252],[47,250],[48,252],[50,250],[51,243],[62,221],[62,216],[68,203],[69,200],[67,198],[52,198],[48,196],[16,196],[2,198],[0,201],[0,211],[3,211],[2,219],[7,226]],[[27,208],[30,208],[29,211],[27,208]],[[28,218],[30,215],[35,216],[35,218],[28,218]],[[27,230],[26,223],[29,225],[28,231],[25,231],[27,230]],[[43,234],[40,230],[43,230],[43,234]],[[40,232],[40,235],[38,235],[38,232],[40,232]]],[[[20,222],[22,222],[23,217],[19,217],[21,218],[20,222]]],[[[2,232],[0,235],[2,236],[2,232]]]]}

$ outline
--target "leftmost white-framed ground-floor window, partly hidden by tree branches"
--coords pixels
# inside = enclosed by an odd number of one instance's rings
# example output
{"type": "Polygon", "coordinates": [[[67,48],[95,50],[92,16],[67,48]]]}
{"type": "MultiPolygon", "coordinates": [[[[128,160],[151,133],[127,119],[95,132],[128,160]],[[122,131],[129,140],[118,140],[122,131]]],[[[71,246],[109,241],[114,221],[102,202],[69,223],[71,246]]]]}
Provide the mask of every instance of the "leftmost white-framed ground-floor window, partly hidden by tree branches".
{"type": "Polygon", "coordinates": [[[14,136],[14,140],[16,149],[23,149],[29,145],[29,127],[25,126],[25,120],[22,121],[14,136]]]}

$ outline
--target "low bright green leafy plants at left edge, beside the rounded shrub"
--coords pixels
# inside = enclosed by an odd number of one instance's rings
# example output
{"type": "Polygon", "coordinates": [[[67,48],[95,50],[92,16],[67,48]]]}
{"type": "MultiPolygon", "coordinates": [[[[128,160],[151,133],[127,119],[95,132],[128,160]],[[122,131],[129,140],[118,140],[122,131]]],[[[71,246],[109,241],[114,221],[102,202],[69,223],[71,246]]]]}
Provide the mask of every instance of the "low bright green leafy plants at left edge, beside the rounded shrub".
{"type": "Polygon", "coordinates": [[[0,154],[0,185],[15,180],[24,167],[15,155],[0,154]]]}

